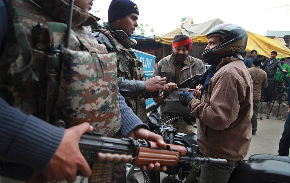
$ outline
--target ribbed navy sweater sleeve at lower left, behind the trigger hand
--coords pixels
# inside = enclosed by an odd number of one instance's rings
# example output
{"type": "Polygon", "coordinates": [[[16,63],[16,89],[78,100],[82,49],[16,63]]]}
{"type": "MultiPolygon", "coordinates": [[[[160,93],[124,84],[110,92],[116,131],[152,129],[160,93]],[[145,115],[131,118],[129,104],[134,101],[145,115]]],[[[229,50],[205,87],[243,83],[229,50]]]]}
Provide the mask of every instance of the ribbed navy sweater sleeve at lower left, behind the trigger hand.
{"type": "Polygon", "coordinates": [[[23,114],[0,98],[0,157],[43,171],[57,150],[64,128],[23,114]]]}

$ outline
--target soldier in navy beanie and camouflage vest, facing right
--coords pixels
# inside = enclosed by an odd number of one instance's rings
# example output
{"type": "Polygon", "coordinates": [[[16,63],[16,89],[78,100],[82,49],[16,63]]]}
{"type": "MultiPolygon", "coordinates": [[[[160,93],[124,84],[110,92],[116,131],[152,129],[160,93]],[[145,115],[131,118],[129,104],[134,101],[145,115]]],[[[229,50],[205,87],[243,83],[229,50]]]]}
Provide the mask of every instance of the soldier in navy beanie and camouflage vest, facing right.
{"type": "Polygon", "coordinates": [[[144,93],[162,89],[166,78],[157,76],[145,82],[143,64],[131,49],[136,45],[136,41],[129,39],[138,26],[138,15],[137,5],[132,1],[113,0],[108,10],[109,22],[92,32],[98,42],[106,46],[108,52],[117,53],[120,93],[134,113],[147,123],[145,98],[150,98],[151,95],[147,93],[144,96],[144,93]]]}

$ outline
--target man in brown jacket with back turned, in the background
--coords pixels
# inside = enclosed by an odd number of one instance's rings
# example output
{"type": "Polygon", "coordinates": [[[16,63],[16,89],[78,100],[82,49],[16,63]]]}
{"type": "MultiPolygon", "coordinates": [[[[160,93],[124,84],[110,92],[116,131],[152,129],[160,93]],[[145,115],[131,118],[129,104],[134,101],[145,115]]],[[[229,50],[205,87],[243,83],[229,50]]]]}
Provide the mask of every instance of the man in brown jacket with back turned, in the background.
{"type": "Polygon", "coordinates": [[[260,57],[255,57],[253,59],[253,67],[249,68],[249,73],[253,80],[253,104],[254,104],[254,114],[252,116],[252,135],[256,134],[257,131],[257,119],[258,119],[258,110],[259,104],[261,100],[261,89],[267,88],[268,86],[268,79],[267,73],[260,69],[262,59],[260,57]]]}

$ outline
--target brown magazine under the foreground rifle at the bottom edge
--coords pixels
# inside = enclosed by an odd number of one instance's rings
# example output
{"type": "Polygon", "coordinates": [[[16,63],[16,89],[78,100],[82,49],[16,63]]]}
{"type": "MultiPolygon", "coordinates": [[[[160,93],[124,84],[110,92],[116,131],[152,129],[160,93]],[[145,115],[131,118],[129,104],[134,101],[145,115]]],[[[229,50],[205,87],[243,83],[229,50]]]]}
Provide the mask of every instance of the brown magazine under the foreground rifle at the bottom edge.
{"type": "Polygon", "coordinates": [[[97,162],[93,163],[92,175],[89,178],[89,183],[111,183],[113,175],[112,162],[97,162]]]}

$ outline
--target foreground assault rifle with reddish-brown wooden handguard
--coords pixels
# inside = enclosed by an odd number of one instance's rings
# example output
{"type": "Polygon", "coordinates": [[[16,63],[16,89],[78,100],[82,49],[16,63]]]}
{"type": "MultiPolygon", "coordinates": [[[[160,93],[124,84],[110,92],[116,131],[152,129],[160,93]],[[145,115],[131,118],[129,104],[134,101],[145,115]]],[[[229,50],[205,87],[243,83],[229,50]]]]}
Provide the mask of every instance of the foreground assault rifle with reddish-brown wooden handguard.
{"type": "MultiPolygon", "coordinates": [[[[198,164],[209,162],[214,164],[226,164],[226,159],[214,159],[197,154],[198,146],[184,147],[174,144],[166,144],[161,148],[156,142],[142,139],[114,139],[101,137],[99,133],[86,132],[79,140],[79,148],[88,164],[92,167],[92,177],[97,182],[110,180],[108,162],[124,162],[133,165],[148,165],[159,162],[161,165],[176,166],[178,162],[198,164]],[[94,163],[95,162],[95,163],[94,163]],[[98,166],[96,164],[105,164],[98,166]],[[93,165],[93,166],[92,166],[93,165]],[[106,166],[107,165],[107,166],[106,166]],[[104,170],[106,169],[107,170],[104,170]],[[108,173],[109,172],[109,173],[108,173]],[[102,177],[106,178],[102,178],[102,177]]],[[[91,177],[91,178],[92,178],[91,177]]]]}

